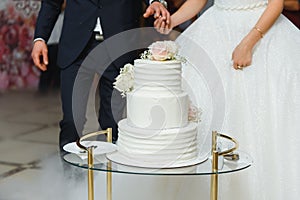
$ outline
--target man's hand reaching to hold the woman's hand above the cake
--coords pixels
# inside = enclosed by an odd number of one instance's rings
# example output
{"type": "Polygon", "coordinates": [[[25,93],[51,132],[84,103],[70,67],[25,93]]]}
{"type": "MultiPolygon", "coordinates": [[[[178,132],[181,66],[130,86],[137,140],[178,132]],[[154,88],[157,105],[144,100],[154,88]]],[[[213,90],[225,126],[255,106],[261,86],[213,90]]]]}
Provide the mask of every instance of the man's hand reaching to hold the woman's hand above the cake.
{"type": "Polygon", "coordinates": [[[157,1],[151,3],[148,6],[148,8],[146,9],[143,16],[145,18],[148,18],[152,15],[155,19],[161,18],[162,20],[165,21],[165,23],[167,25],[170,23],[170,13],[169,13],[169,11],[165,8],[164,5],[162,5],[161,3],[157,2],[157,1]]]}

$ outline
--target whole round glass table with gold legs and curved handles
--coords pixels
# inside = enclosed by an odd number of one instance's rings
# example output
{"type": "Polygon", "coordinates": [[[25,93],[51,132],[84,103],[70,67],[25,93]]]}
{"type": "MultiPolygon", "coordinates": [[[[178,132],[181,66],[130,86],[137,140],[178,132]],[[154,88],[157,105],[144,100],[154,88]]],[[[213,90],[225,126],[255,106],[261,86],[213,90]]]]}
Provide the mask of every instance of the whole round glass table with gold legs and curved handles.
{"type": "MultiPolygon", "coordinates": [[[[94,200],[94,175],[93,172],[103,171],[107,174],[107,200],[112,200],[112,173],[126,173],[135,175],[210,175],[211,185],[210,185],[210,200],[218,199],[218,175],[224,173],[232,173],[246,169],[251,166],[252,158],[244,152],[236,151],[238,148],[238,142],[227,135],[218,133],[216,131],[212,132],[212,148],[211,156],[208,157],[201,163],[189,165],[186,167],[173,167],[173,168],[146,168],[146,167],[136,167],[132,163],[120,164],[120,162],[115,162],[111,158],[111,153],[101,153],[96,154],[94,150],[97,148],[105,146],[103,143],[101,145],[91,145],[84,143],[83,140],[88,139],[92,136],[99,134],[107,134],[107,142],[105,145],[113,145],[112,141],[112,130],[108,128],[107,130],[98,131],[86,134],[82,136],[77,142],[76,153],[67,153],[63,156],[63,159],[76,167],[81,167],[87,169],[88,172],[88,200],[94,200]],[[221,149],[219,147],[219,139],[225,139],[234,144],[233,147],[228,147],[226,149],[221,149]],[[83,150],[83,151],[81,151],[83,150]]],[[[68,144],[67,144],[68,145],[68,144]]],[[[75,144],[73,144],[75,146],[75,144]]],[[[96,150],[95,150],[96,151],[96,150]]],[[[71,151],[72,152],[72,151],[71,151]]],[[[122,163],[122,162],[121,162],[122,163]]]]}

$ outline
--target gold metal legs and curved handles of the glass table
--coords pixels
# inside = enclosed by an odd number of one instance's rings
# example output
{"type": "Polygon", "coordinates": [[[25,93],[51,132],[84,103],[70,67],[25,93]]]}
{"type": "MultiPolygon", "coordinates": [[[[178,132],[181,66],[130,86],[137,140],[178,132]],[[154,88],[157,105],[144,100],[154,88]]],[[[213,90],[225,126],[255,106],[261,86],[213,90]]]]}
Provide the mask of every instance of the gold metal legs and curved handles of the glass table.
{"type": "MultiPolygon", "coordinates": [[[[85,147],[81,144],[82,140],[85,140],[87,138],[97,136],[100,134],[106,134],[107,136],[107,142],[112,142],[112,129],[108,128],[106,130],[97,131],[88,133],[84,136],[82,136],[79,140],[77,140],[77,145],[81,149],[85,150],[88,154],[88,200],[94,200],[94,174],[93,174],[93,166],[94,166],[94,156],[93,156],[93,149],[94,146],[85,147]]],[[[211,186],[210,186],[210,200],[217,200],[218,199],[218,175],[219,175],[219,158],[220,156],[223,156],[224,158],[230,159],[230,160],[238,160],[239,155],[234,153],[235,150],[238,148],[238,142],[227,135],[218,133],[217,131],[212,132],[212,172],[211,172],[211,186]],[[217,147],[217,141],[218,138],[225,138],[227,140],[230,140],[235,144],[234,147],[225,150],[220,151],[217,147]]],[[[250,166],[250,165],[249,165],[250,166]]],[[[112,169],[111,169],[111,161],[108,161],[106,166],[106,183],[107,183],[107,190],[106,190],[106,196],[107,200],[112,200],[112,169]]]]}

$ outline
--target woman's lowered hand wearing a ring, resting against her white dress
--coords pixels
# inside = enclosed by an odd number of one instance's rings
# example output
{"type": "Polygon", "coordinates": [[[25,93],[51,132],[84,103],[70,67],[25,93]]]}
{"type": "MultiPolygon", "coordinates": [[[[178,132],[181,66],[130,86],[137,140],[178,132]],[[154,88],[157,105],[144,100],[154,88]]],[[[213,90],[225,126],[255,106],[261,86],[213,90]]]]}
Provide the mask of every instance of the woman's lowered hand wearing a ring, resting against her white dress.
{"type": "Polygon", "coordinates": [[[241,42],[232,53],[233,68],[242,70],[252,62],[252,47],[241,42]]]}

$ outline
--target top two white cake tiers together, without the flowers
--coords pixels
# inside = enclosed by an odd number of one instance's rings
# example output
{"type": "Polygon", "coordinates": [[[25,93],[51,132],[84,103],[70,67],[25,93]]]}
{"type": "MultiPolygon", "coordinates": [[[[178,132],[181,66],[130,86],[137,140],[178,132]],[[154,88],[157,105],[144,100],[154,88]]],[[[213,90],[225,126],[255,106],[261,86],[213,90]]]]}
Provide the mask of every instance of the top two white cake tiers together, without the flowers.
{"type": "Polygon", "coordinates": [[[127,94],[127,123],[145,129],[184,127],[188,96],[181,89],[180,61],[134,61],[134,90],[127,94]]]}

